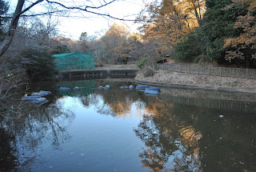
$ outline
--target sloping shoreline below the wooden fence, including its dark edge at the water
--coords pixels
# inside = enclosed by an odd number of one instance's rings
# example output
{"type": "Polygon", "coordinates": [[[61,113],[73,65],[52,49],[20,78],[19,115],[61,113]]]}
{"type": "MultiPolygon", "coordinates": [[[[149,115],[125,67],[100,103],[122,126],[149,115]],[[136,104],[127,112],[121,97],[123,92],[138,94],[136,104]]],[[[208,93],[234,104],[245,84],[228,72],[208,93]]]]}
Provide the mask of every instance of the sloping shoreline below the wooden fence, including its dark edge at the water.
{"type": "Polygon", "coordinates": [[[183,74],[166,70],[157,70],[152,77],[144,77],[138,71],[134,78],[138,84],[164,86],[186,90],[215,90],[222,92],[242,92],[256,94],[256,80],[207,76],[202,74],[183,74]]]}

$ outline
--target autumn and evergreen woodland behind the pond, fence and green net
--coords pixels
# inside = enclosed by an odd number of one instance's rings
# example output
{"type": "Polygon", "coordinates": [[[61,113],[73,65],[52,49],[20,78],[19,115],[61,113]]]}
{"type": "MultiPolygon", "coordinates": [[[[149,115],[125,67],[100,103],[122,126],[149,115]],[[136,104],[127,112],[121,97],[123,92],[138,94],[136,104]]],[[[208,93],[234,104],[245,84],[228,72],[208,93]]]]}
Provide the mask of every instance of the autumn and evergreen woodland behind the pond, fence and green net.
{"type": "Polygon", "coordinates": [[[53,14],[61,16],[65,9],[74,7],[47,0],[64,10],[28,14],[31,7],[44,0],[22,10],[25,2],[19,0],[16,11],[10,14],[9,2],[0,0],[2,90],[26,79],[50,78],[57,74],[52,55],[69,52],[94,55],[95,66],[128,62],[142,67],[168,54],[179,63],[256,67],[254,0],[144,1],[142,11],[134,19],[141,24],[138,33],[130,33],[117,18],[102,36],[88,35],[85,30],[78,40],[59,34],[59,21],[53,19],[53,14]]]}

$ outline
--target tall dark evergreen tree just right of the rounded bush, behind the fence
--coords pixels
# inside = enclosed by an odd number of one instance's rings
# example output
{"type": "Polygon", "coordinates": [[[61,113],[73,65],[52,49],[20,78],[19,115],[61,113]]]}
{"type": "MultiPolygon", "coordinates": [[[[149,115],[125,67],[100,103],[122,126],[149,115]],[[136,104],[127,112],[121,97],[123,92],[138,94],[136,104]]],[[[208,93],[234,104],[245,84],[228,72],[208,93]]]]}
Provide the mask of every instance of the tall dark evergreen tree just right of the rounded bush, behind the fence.
{"type": "Polygon", "coordinates": [[[230,0],[207,0],[203,25],[200,28],[202,40],[202,54],[206,54],[211,61],[225,63],[224,40],[238,34],[234,30],[237,18],[234,9],[225,10],[230,0]]]}

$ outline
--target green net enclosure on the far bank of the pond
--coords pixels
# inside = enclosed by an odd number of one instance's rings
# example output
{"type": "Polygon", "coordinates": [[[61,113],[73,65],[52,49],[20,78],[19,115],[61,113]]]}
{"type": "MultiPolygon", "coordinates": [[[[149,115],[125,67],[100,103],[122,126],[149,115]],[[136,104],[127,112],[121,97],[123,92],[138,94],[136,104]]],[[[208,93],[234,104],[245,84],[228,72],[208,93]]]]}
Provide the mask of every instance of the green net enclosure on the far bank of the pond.
{"type": "Polygon", "coordinates": [[[54,54],[58,70],[94,70],[94,56],[86,53],[54,54]]]}

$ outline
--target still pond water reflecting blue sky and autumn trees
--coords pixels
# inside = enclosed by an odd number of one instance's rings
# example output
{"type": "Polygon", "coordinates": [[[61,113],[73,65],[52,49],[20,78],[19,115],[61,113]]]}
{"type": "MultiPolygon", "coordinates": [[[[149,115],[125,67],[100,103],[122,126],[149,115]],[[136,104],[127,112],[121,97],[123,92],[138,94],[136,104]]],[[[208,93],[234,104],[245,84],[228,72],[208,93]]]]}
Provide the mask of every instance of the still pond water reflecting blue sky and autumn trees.
{"type": "Polygon", "coordinates": [[[35,84],[42,106],[20,100],[1,118],[0,171],[255,171],[256,97],[162,88],[133,79],[35,84]],[[110,90],[98,86],[110,85],[110,90]],[[82,87],[58,91],[58,87],[82,87]]]}

